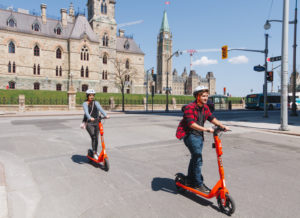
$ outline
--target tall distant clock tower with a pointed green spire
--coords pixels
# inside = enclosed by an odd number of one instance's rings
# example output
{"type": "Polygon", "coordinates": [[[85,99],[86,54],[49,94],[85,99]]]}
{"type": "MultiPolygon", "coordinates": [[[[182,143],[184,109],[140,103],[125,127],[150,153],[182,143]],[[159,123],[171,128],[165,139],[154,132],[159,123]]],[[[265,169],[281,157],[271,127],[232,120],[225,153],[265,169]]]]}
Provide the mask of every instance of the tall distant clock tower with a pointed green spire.
{"type": "Polygon", "coordinates": [[[157,80],[156,92],[163,93],[167,87],[167,73],[169,73],[169,87],[172,88],[172,59],[167,59],[172,54],[172,33],[170,32],[167,12],[164,11],[161,28],[157,37],[157,80]]]}

